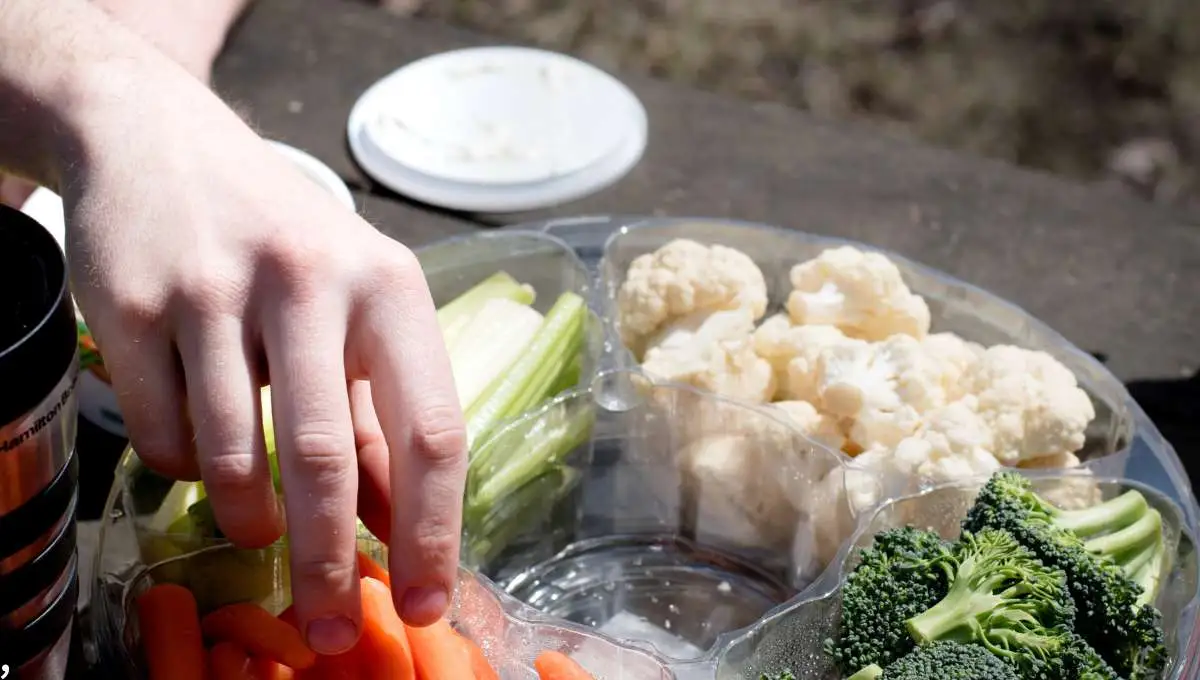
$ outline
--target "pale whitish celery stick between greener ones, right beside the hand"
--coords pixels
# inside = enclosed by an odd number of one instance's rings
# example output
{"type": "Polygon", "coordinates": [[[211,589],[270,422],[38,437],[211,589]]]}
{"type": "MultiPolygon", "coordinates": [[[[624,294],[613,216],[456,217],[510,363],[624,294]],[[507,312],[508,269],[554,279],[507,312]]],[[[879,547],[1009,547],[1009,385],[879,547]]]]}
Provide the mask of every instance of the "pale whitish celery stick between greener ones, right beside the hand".
{"type": "Polygon", "coordinates": [[[450,349],[450,367],[463,410],[521,356],[542,320],[533,307],[493,297],[467,321],[450,349]]]}

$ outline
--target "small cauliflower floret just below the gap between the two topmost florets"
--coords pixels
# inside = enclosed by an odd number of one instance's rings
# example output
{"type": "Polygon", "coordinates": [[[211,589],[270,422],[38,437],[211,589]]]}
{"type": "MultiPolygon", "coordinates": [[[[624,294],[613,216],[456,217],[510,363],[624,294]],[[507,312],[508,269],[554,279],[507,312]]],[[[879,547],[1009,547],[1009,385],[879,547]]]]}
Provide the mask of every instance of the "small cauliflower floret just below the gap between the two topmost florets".
{"type": "Polygon", "coordinates": [[[755,351],[770,362],[779,383],[780,399],[820,404],[817,359],[826,348],[859,344],[834,326],[797,326],[787,314],[775,314],[754,333],[755,351]]]}

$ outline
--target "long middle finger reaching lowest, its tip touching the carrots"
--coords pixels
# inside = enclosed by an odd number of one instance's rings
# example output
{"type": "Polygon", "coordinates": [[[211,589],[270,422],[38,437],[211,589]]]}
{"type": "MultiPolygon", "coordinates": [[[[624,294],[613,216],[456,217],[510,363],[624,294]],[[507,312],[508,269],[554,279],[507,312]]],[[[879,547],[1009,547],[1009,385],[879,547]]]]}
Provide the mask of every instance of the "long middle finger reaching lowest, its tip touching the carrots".
{"type": "Polygon", "coordinates": [[[362,619],[346,309],[344,295],[310,296],[268,312],[263,329],[275,443],[292,528],[292,592],[301,631],[319,654],[353,646],[362,619]]]}

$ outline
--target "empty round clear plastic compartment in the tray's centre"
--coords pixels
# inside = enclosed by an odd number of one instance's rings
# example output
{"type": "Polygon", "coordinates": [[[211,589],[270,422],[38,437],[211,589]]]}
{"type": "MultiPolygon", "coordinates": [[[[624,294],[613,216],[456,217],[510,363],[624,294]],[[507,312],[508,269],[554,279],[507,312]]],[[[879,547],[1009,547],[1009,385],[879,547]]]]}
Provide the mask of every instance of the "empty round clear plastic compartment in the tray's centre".
{"type": "Polygon", "coordinates": [[[601,374],[478,455],[491,450],[528,459],[509,469],[529,481],[505,480],[520,491],[502,495],[474,491],[496,475],[468,477],[469,495],[496,499],[467,510],[494,517],[470,523],[490,532],[464,534],[468,566],[552,616],[674,660],[788,601],[853,530],[844,495],[821,520],[790,499],[841,464],[834,452],[773,414],[636,373],[601,374]],[[542,456],[546,433],[580,428],[592,437],[560,461],[542,456]]]}

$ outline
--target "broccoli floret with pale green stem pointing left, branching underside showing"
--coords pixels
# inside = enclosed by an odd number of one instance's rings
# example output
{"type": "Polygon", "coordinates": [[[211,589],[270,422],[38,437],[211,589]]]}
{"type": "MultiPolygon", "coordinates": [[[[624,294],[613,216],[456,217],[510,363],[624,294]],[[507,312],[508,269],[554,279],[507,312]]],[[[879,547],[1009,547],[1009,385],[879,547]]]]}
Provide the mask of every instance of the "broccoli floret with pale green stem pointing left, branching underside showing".
{"type": "Polygon", "coordinates": [[[962,534],[953,554],[930,566],[947,570],[950,583],[946,597],[906,622],[918,644],[976,643],[1025,678],[1066,663],[1075,604],[1061,570],[996,529],[962,534]]]}

